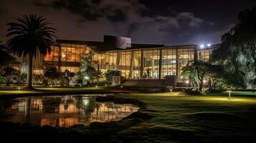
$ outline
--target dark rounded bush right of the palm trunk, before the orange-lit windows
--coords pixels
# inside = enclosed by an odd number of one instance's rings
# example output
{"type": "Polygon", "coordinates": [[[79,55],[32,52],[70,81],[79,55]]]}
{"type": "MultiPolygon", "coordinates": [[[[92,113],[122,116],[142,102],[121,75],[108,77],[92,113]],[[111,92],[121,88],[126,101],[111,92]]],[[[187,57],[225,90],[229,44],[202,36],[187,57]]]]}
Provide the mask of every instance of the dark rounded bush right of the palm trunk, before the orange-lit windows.
{"type": "Polygon", "coordinates": [[[56,66],[46,66],[44,68],[44,78],[51,82],[51,84],[57,84],[57,80],[60,79],[60,73],[57,71],[56,66]]]}

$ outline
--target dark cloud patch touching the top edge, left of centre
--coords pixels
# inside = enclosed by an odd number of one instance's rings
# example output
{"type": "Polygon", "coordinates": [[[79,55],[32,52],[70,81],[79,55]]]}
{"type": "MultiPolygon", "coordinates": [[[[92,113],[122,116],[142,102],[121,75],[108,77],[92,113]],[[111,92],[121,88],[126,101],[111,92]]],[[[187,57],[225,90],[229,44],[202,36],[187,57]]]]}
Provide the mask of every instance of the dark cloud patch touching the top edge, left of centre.
{"type": "Polygon", "coordinates": [[[82,16],[85,20],[96,21],[105,17],[112,22],[125,21],[129,10],[122,2],[114,3],[101,0],[54,0],[50,4],[56,9],[67,9],[73,14],[82,16]]]}

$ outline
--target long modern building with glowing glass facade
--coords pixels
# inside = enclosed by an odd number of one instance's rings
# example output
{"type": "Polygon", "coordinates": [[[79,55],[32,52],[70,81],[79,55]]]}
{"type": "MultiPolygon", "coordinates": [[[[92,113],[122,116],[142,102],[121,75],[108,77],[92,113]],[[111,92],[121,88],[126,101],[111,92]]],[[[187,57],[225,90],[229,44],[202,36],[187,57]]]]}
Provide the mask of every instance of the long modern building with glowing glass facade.
{"type": "Polygon", "coordinates": [[[43,62],[54,64],[62,72],[77,72],[83,54],[93,51],[93,66],[104,72],[118,69],[125,79],[165,79],[166,75],[176,75],[180,82],[182,67],[196,58],[207,61],[214,47],[131,44],[130,38],[116,36],[104,36],[104,41],[59,39],[43,62]]]}

